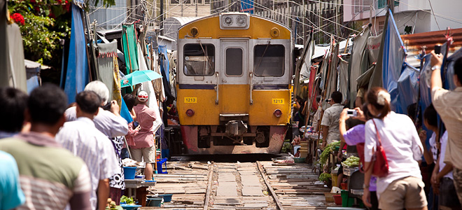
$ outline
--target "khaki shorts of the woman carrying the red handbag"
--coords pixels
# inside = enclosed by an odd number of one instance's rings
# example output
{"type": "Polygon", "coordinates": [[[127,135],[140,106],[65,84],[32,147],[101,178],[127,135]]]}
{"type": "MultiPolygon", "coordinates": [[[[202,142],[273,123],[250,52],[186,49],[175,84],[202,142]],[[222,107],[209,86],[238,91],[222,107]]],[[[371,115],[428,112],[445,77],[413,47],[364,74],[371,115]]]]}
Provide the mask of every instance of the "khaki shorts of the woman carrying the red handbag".
{"type": "Polygon", "coordinates": [[[380,194],[379,209],[419,209],[427,206],[422,179],[407,176],[390,183],[380,194]]]}

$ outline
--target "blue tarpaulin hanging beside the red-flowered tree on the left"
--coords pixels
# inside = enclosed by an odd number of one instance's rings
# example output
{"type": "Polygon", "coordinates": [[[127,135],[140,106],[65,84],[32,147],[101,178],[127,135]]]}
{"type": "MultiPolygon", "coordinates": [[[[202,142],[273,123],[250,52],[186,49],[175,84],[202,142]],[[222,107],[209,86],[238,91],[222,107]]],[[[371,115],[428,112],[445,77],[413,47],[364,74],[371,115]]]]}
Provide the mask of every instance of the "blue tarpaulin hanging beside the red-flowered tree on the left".
{"type": "Polygon", "coordinates": [[[69,104],[75,102],[76,94],[83,91],[89,79],[85,34],[83,33],[81,15],[82,9],[73,3],[71,3],[71,8],[71,41],[69,43],[69,59],[64,82],[64,92],[67,94],[69,104]]]}

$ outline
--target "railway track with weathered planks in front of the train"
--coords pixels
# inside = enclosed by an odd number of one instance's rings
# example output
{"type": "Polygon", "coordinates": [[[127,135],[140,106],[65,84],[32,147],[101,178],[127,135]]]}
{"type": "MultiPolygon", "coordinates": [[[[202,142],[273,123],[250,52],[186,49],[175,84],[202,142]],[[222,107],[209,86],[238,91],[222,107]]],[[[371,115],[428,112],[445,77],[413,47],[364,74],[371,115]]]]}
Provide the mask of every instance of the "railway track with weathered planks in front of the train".
{"type": "Polygon", "coordinates": [[[141,209],[326,209],[317,176],[306,164],[168,162],[148,194],[173,194],[162,207],[141,209]]]}

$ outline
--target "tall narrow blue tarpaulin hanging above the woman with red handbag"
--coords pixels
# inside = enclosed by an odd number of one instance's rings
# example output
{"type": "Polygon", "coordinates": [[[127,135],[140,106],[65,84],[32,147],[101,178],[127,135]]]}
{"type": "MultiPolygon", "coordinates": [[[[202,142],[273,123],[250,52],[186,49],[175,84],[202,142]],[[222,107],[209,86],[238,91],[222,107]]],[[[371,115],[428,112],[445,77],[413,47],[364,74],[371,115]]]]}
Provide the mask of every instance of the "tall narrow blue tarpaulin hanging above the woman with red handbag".
{"type": "Polygon", "coordinates": [[[384,29],[384,54],[381,62],[383,87],[391,95],[391,109],[396,111],[398,105],[398,79],[401,76],[402,64],[405,59],[405,49],[398,27],[391,11],[388,11],[388,22],[384,29]]]}

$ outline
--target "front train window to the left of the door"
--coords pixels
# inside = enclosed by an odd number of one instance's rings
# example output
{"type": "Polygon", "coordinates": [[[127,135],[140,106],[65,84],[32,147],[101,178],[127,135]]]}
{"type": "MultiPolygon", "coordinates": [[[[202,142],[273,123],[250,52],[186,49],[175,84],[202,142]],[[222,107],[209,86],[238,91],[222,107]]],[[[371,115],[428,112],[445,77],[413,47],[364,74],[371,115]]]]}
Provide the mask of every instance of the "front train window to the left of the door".
{"type": "Polygon", "coordinates": [[[186,44],[183,69],[188,76],[214,75],[215,46],[207,43],[186,44]]]}

